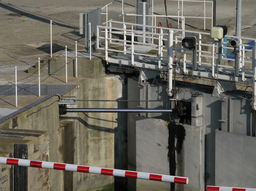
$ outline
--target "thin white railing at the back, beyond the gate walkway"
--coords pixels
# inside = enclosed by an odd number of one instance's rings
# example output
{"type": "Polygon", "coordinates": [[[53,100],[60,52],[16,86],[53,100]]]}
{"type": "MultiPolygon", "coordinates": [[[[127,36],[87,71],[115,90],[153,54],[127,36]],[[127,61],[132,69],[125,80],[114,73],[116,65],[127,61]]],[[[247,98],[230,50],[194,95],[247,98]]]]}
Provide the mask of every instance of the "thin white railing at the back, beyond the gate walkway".
{"type": "MultiPolygon", "coordinates": [[[[152,15],[146,15],[147,17],[152,18],[152,23],[151,23],[152,26],[156,26],[157,25],[157,20],[156,19],[162,17],[162,18],[177,18],[178,19],[178,29],[180,28],[180,19],[184,22],[185,18],[204,19],[204,29],[206,28],[205,27],[206,19],[210,19],[211,20],[211,27],[213,27],[213,1],[206,1],[206,0],[168,0],[168,1],[178,1],[178,7],[177,7],[178,14],[177,15],[168,15],[168,16],[154,14],[154,0],[152,0],[152,15]],[[181,2],[181,10],[180,10],[180,2],[181,2]],[[203,9],[204,16],[184,15],[184,2],[189,2],[189,3],[193,2],[193,3],[202,3],[202,4],[204,4],[204,9],[203,9]],[[206,4],[210,4],[210,9],[211,9],[211,15],[208,16],[208,17],[206,16],[206,4]]],[[[108,26],[108,23],[110,21],[113,21],[114,19],[117,19],[120,16],[123,16],[123,22],[124,22],[124,16],[142,16],[142,15],[137,15],[137,14],[134,14],[134,13],[125,13],[124,12],[124,0],[116,0],[116,1],[113,1],[109,4],[106,4],[101,10],[103,11],[104,9],[106,9],[106,12],[105,13],[102,12],[101,14],[106,15],[106,22],[103,22],[102,25],[106,25],[106,26],[108,26]],[[108,6],[117,2],[117,1],[122,1],[122,7],[121,7],[122,13],[108,13],[108,6]],[[114,16],[114,18],[109,19],[108,16],[110,16],[110,15],[114,16]]],[[[181,28],[182,29],[185,28],[185,22],[184,22],[184,24],[182,23],[181,28]]]]}

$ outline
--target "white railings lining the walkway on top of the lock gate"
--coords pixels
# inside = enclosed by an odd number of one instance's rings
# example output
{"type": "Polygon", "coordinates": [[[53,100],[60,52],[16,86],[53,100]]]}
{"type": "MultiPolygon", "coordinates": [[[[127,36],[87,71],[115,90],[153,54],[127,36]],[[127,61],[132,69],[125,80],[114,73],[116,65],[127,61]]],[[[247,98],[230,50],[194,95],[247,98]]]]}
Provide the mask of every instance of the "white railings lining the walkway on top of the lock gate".
{"type": "MultiPolygon", "coordinates": [[[[155,32],[143,32],[143,31],[136,31],[133,30],[134,26],[143,26],[139,24],[132,24],[132,23],[124,23],[124,22],[117,22],[117,21],[111,21],[110,26],[97,26],[98,31],[103,30],[105,31],[105,36],[99,36],[97,34],[97,41],[101,39],[102,41],[105,40],[106,44],[105,47],[99,48],[100,50],[105,50],[105,59],[108,62],[121,62],[122,64],[126,65],[136,65],[138,67],[151,67],[154,69],[159,70],[165,70],[167,71],[168,68],[166,64],[168,63],[168,56],[163,56],[163,54],[167,53],[168,46],[163,46],[163,42],[165,44],[168,44],[168,34],[163,33],[162,31],[169,30],[169,28],[164,27],[158,27],[158,26],[149,26],[145,25],[146,27],[151,27],[152,31],[158,31],[158,29],[161,31],[160,33],[155,32]],[[114,23],[122,24],[124,26],[123,28],[118,27],[112,27],[114,23]],[[129,29],[132,28],[132,29],[129,29]],[[155,30],[154,30],[155,29],[155,30]],[[114,30],[114,31],[113,31],[114,30]],[[138,41],[134,41],[133,37],[142,37],[141,34],[148,35],[146,38],[152,39],[152,43],[142,43],[138,41]],[[121,34],[126,36],[123,39],[116,39],[112,38],[113,34],[121,34]],[[131,36],[132,40],[126,40],[127,36],[131,36]],[[158,43],[155,44],[155,47],[151,48],[154,52],[158,51],[158,54],[151,52],[143,53],[138,52],[134,50],[135,46],[142,45],[142,46],[152,46],[154,45],[154,40],[158,40],[158,43]],[[113,46],[119,46],[122,48],[114,49],[113,46]],[[131,47],[131,48],[130,48],[131,47]],[[130,49],[129,49],[130,48],[130,49]],[[129,50],[127,50],[129,49],[129,50]],[[115,52],[120,54],[126,54],[126,57],[129,57],[131,60],[129,62],[126,62],[124,60],[118,61],[118,59],[115,59],[113,57],[109,57],[109,52],[115,52]],[[136,62],[134,61],[136,59],[136,62]],[[153,64],[147,64],[145,62],[140,62],[140,60],[148,60],[158,63],[157,66],[153,64]]],[[[191,74],[195,76],[202,76],[207,78],[215,78],[215,79],[224,79],[229,81],[241,81],[241,82],[253,82],[253,69],[254,69],[254,60],[255,60],[255,46],[254,44],[244,44],[244,41],[255,41],[256,39],[253,38],[245,38],[245,37],[234,37],[226,35],[226,37],[231,40],[234,38],[238,38],[240,43],[238,44],[237,48],[240,51],[240,60],[239,60],[239,76],[234,75],[235,66],[229,64],[229,62],[234,62],[235,59],[232,56],[230,52],[234,50],[233,47],[229,47],[228,42],[221,41],[221,50],[222,50],[222,60],[225,62],[221,62],[220,65],[216,61],[217,55],[218,55],[218,43],[216,41],[211,40],[210,33],[208,32],[197,32],[197,31],[187,31],[182,29],[173,29],[174,31],[174,55],[177,59],[180,59],[180,64],[182,68],[179,68],[177,72],[184,73],[184,74],[191,74]],[[193,59],[192,56],[186,55],[192,55],[192,51],[181,47],[181,40],[184,38],[184,36],[197,36],[197,54],[198,54],[198,61],[197,64],[199,65],[199,69],[197,71],[193,70],[192,64],[193,59]],[[202,35],[204,35],[206,38],[203,39],[202,35]],[[249,49],[246,50],[246,47],[249,49]],[[223,53],[223,50],[227,50],[228,53],[223,53]],[[243,51],[243,53],[242,53],[243,51]],[[245,53],[245,51],[247,53],[245,53]],[[183,57],[183,58],[182,58],[183,57]]],[[[98,44],[98,43],[97,43],[98,44]]],[[[177,67],[176,67],[177,69],[177,67]]]]}

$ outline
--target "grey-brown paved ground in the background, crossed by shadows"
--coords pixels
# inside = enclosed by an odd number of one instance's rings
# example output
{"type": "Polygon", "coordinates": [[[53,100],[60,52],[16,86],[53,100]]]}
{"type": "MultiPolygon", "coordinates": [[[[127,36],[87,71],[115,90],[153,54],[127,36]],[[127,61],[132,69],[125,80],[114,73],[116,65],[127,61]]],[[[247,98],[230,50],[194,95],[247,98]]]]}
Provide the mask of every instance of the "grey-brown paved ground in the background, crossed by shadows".
{"type": "MultiPolygon", "coordinates": [[[[106,4],[114,0],[0,0],[0,84],[14,84],[14,73],[6,68],[12,69],[13,66],[25,66],[26,69],[18,71],[19,82],[25,83],[31,81],[35,76],[31,76],[26,72],[27,67],[34,65],[38,57],[41,59],[49,55],[48,49],[40,49],[31,46],[31,44],[50,43],[50,20],[54,22],[52,25],[52,37],[54,54],[60,53],[65,46],[69,46],[69,50],[75,50],[72,43],[77,40],[84,42],[84,35],[79,34],[79,13],[87,9],[102,8],[106,4]],[[56,25],[55,25],[56,24],[56,25]],[[5,75],[8,75],[4,77],[5,75]]],[[[211,0],[209,0],[211,1],[211,0]]],[[[228,34],[234,35],[236,23],[236,2],[235,0],[217,0],[217,25],[227,25],[228,34]]],[[[125,13],[135,13],[135,0],[124,0],[125,13]]],[[[203,16],[204,3],[194,1],[184,2],[184,16],[203,16]]],[[[211,15],[211,9],[206,3],[206,16],[211,15]]],[[[168,15],[178,15],[177,1],[167,1],[168,15]]],[[[242,29],[249,31],[256,24],[256,0],[243,0],[242,4],[242,29]]],[[[180,8],[181,9],[181,8],[180,8]]],[[[104,10],[105,12],[105,10],[104,10]]],[[[121,0],[111,4],[108,7],[108,13],[121,13],[121,0]]],[[[164,0],[154,0],[154,14],[165,15],[164,0]]],[[[111,18],[111,16],[109,16],[111,18]]],[[[102,21],[105,21],[102,16],[102,21]]],[[[122,21],[123,19],[117,19],[122,21]]],[[[165,18],[158,18],[166,26],[165,18]]],[[[125,22],[135,22],[135,17],[125,18],[125,22]]],[[[173,27],[178,26],[176,18],[169,18],[168,22],[173,27]]],[[[203,19],[186,19],[186,28],[204,28],[203,19]]],[[[206,29],[210,30],[211,22],[206,20],[206,29]]],[[[256,28],[253,27],[253,28],[256,28]]],[[[253,31],[253,30],[252,30],[253,31]]],[[[254,35],[250,32],[249,35],[254,35]]],[[[243,36],[243,33],[242,33],[243,36]]],[[[254,37],[255,38],[255,37],[254,37]]],[[[79,44],[78,50],[84,47],[79,44]]],[[[64,83],[63,76],[45,76],[42,79],[44,83],[64,83]]],[[[68,82],[76,82],[79,79],[69,77],[68,82]]],[[[80,79],[81,80],[81,79],[80,79]]],[[[37,79],[30,83],[36,83],[37,79]]],[[[39,97],[36,97],[39,99],[39,97]]],[[[19,108],[32,103],[34,100],[19,97],[19,108]]],[[[1,96],[0,105],[4,108],[15,108],[15,96],[1,96]]]]}

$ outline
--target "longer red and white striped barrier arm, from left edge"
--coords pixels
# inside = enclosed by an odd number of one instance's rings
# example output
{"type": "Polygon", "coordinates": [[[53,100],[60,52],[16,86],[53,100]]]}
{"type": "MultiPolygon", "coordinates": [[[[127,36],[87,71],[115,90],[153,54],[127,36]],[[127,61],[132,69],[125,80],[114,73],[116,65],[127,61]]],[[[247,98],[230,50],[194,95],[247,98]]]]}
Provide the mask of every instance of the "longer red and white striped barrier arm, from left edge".
{"type": "Polygon", "coordinates": [[[68,170],[73,172],[85,172],[85,173],[93,173],[93,174],[99,174],[99,175],[130,177],[130,178],[138,178],[138,179],[162,181],[162,182],[172,182],[172,183],[180,183],[180,184],[189,183],[189,178],[179,177],[179,176],[158,175],[158,174],[150,174],[150,173],[144,173],[144,172],[105,169],[105,168],[99,168],[99,167],[52,163],[52,162],[44,162],[44,161],[37,161],[37,160],[13,159],[13,158],[0,157],[0,164],[37,167],[37,168],[44,168],[44,169],[68,170]]]}

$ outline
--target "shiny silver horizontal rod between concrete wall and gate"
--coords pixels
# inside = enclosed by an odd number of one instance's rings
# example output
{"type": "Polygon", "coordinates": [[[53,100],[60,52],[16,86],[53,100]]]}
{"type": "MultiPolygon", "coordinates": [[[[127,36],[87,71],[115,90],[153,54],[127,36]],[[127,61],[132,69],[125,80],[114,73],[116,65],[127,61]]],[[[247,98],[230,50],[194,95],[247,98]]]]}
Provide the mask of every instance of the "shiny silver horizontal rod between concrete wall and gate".
{"type": "Polygon", "coordinates": [[[172,113],[173,109],[109,109],[109,108],[67,108],[67,112],[85,113],[172,113]]]}

